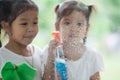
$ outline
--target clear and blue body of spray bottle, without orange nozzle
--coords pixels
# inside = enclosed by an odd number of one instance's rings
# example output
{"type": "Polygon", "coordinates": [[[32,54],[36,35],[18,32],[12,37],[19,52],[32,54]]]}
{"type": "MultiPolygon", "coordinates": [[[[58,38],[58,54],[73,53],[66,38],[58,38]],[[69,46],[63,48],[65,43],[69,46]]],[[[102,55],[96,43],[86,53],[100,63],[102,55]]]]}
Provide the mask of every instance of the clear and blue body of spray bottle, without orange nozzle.
{"type": "MultiPolygon", "coordinates": [[[[61,46],[58,46],[56,50],[55,73],[56,71],[59,73],[61,80],[68,80],[67,67],[65,63],[63,49],[61,46]]],[[[55,78],[55,80],[58,80],[57,76],[55,78]]]]}

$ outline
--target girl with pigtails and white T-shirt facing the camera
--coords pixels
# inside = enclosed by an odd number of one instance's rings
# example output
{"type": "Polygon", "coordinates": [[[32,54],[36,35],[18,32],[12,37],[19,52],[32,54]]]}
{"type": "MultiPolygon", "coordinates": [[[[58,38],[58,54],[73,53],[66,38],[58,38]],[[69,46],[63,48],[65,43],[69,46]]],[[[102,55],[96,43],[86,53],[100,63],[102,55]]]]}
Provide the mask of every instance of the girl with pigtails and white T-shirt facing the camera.
{"type": "Polygon", "coordinates": [[[100,80],[102,56],[85,45],[92,10],[79,0],[65,0],[55,8],[69,80],[100,80]]]}

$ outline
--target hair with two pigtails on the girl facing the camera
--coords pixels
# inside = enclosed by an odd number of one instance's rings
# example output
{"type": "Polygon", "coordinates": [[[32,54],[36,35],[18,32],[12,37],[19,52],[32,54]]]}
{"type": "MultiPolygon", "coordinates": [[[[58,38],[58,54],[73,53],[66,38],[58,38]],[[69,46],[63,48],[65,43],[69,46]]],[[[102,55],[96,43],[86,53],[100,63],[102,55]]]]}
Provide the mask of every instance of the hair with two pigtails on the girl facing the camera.
{"type": "Polygon", "coordinates": [[[58,4],[55,8],[57,22],[59,22],[62,17],[71,14],[73,10],[82,11],[89,22],[89,16],[92,12],[92,8],[92,5],[88,6],[77,0],[64,1],[63,3],[58,4]]]}

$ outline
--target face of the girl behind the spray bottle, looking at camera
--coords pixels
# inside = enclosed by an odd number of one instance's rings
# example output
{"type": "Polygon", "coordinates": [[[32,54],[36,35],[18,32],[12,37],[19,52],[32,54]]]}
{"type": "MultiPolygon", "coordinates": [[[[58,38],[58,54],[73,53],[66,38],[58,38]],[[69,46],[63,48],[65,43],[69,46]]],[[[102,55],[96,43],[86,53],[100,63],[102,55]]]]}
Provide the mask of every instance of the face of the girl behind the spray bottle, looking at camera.
{"type": "Polygon", "coordinates": [[[63,41],[80,41],[87,34],[88,24],[84,14],[74,10],[61,19],[59,27],[63,41]]]}

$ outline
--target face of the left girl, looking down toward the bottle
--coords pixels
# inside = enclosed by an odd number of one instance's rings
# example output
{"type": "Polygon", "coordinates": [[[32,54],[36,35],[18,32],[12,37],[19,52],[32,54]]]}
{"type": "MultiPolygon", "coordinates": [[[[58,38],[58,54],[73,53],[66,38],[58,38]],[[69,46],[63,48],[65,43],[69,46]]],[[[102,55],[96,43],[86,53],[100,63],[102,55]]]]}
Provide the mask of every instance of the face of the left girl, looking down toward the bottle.
{"type": "Polygon", "coordinates": [[[10,41],[23,45],[30,44],[38,32],[38,12],[23,12],[13,21],[9,31],[10,41]]]}

